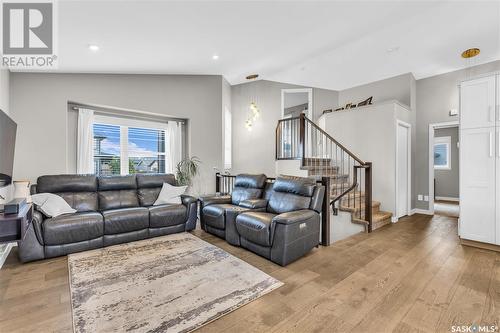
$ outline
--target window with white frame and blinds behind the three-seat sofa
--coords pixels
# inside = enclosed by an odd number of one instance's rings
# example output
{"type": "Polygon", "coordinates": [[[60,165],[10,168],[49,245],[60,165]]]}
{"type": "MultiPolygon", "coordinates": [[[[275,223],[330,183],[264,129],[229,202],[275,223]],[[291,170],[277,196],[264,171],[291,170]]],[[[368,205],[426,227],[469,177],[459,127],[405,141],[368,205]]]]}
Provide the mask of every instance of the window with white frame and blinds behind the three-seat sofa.
{"type": "Polygon", "coordinates": [[[166,124],[96,116],[97,175],[165,173],[166,124]]]}

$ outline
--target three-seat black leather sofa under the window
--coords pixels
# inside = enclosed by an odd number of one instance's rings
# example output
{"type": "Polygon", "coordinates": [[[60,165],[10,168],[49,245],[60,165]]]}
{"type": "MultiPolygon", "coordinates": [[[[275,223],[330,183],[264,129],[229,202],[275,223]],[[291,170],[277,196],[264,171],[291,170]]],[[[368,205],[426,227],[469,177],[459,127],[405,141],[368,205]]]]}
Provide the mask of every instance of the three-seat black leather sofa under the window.
{"type": "Polygon", "coordinates": [[[66,255],[195,228],[197,200],[153,206],[163,183],[174,175],[139,174],[41,176],[32,194],[54,193],[76,209],[74,214],[46,218],[35,210],[33,223],[19,244],[23,262],[66,255]]]}

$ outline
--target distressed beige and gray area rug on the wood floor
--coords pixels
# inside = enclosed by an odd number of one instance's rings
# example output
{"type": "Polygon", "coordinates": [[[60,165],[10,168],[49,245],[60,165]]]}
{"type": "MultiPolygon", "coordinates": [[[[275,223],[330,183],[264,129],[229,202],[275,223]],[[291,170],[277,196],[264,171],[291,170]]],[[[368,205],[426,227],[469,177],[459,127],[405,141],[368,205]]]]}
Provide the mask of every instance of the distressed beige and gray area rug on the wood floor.
{"type": "Polygon", "coordinates": [[[282,283],[189,233],[68,257],[75,332],[190,332],[282,283]]]}

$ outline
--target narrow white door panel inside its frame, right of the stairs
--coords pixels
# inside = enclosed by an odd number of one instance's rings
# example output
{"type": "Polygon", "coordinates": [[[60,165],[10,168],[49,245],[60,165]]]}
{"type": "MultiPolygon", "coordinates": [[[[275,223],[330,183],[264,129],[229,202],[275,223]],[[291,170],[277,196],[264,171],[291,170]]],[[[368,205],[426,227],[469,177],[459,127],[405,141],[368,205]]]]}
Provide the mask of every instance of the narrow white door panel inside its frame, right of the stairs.
{"type": "Polygon", "coordinates": [[[398,124],[397,129],[397,217],[408,215],[408,142],[409,131],[408,127],[398,124]]]}

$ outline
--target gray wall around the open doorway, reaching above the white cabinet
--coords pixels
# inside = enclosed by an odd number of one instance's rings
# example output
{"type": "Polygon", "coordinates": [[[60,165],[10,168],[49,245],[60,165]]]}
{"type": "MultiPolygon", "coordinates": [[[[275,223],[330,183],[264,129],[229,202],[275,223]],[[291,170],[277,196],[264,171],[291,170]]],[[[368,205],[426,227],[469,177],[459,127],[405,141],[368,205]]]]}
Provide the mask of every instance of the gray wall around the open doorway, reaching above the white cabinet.
{"type": "MultiPolygon", "coordinates": [[[[429,193],[429,124],[457,121],[450,109],[459,108],[458,84],[475,75],[500,70],[500,61],[417,80],[417,158],[416,194],[429,193]]],[[[417,201],[417,208],[429,209],[429,203],[417,201]]]]}

